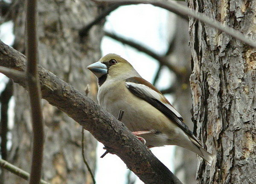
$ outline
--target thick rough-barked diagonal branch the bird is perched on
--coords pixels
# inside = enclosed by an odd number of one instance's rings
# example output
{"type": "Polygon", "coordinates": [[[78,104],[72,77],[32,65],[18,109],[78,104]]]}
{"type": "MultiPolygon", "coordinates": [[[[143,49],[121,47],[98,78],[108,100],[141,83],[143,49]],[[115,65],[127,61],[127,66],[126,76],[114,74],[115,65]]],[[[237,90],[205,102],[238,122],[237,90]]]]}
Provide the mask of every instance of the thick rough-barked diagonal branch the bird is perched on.
{"type": "MultiPolygon", "coordinates": [[[[0,66],[25,69],[26,58],[0,41],[0,66]]],[[[58,107],[118,155],[146,184],[181,184],[175,175],[145,147],[122,122],[102,110],[90,98],[39,66],[42,96],[58,107]]],[[[23,81],[15,80],[22,86],[23,81]]]]}

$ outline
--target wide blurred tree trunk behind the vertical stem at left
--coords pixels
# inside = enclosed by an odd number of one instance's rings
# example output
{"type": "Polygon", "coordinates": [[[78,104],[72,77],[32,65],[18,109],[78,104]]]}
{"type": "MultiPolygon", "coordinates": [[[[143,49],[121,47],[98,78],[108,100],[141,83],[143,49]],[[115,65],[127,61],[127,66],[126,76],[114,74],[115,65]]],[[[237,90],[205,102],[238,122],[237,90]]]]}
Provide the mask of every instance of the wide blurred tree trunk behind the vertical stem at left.
{"type": "MultiPolygon", "coordinates": [[[[13,10],[15,49],[24,52],[24,1],[13,10]]],[[[91,1],[39,0],[38,54],[39,64],[84,92],[90,84],[89,96],[96,97],[96,84],[86,66],[100,58],[102,24],[94,26],[81,40],[78,31],[99,13],[91,1]]],[[[15,126],[12,130],[12,150],[9,161],[29,172],[32,128],[28,95],[15,84],[15,126]]],[[[81,156],[81,126],[66,114],[43,101],[45,145],[43,178],[52,184],[91,184],[81,156]]],[[[85,156],[92,170],[96,164],[96,140],[85,133],[85,156]]],[[[9,183],[27,183],[9,173],[9,183]]]]}

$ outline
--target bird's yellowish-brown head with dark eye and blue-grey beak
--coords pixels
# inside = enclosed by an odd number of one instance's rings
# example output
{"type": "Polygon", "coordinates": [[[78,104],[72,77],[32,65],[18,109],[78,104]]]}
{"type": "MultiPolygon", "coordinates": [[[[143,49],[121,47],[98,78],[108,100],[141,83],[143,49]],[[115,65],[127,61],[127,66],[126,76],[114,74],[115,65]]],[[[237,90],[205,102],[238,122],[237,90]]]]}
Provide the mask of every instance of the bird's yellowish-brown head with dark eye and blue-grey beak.
{"type": "Polygon", "coordinates": [[[98,62],[87,66],[87,69],[93,72],[97,78],[102,76],[114,78],[135,71],[127,60],[116,54],[105,55],[98,62]]]}

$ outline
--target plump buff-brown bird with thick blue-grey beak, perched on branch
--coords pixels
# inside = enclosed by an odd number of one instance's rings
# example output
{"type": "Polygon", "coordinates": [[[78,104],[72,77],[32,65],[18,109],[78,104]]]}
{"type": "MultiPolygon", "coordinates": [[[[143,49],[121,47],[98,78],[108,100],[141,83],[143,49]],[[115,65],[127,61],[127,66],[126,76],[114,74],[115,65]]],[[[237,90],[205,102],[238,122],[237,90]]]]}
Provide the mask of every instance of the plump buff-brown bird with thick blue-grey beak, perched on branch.
{"type": "Polygon", "coordinates": [[[177,145],[211,164],[214,156],[202,147],[179,112],[127,60],[108,54],[87,69],[98,78],[99,105],[115,117],[122,109],[122,123],[148,148],[177,145]]]}

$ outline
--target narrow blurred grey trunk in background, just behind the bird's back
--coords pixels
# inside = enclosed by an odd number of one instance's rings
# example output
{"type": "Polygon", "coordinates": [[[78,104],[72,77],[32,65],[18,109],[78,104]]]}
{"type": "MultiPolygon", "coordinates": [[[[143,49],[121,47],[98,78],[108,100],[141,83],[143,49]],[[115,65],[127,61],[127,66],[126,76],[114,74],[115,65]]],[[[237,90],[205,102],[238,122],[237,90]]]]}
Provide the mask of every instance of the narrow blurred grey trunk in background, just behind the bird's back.
{"type": "MultiPolygon", "coordinates": [[[[173,23],[172,23],[173,25],[173,23]]],[[[189,26],[188,21],[176,17],[175,34],[173,37],[173,48],[169,59],[177,70],[180,71],[175,85],[175,107],[182,115],[189,129],[193,130],[192,98],[189,76],[191,75],[191,52],[189,48],[189,26]]],[[[196,184],[195,175],[197,169],[197,158],[194,152],[181,147],[175,148],[175,175],[183,184],[196,184]]]]}

